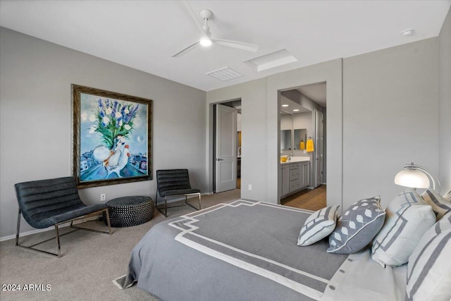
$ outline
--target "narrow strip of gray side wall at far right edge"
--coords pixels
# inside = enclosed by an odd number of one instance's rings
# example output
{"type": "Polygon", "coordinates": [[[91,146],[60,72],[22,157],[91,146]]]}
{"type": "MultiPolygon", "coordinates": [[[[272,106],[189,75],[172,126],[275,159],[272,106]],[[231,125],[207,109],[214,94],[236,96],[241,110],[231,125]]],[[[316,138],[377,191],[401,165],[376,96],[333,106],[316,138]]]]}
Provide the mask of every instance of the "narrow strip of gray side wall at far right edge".
{"type": "Polygon", "coordinates": [[[440,52],[440,181],[442,194],[451,190],[451,9],[438,38],[440,52]]]}

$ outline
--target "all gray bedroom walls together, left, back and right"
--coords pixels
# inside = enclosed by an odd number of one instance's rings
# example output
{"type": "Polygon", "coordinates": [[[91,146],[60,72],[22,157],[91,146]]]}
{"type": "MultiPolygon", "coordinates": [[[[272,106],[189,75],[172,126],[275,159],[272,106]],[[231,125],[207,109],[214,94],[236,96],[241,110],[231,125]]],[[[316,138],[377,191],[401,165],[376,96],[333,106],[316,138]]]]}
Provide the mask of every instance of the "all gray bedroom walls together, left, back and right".
{"type": "MultiPolygon", "coordinates": [[[[438,173],[449,190],[450,23],[448,13],[438,38],[210,92],[1,28],[0,237],[15,231],[14,183],[70,175],[71,83],[154,99],[154,170],[190,168],[203,192],[212,191],[212,104],[242,99],[242,197],[275,203],[279,91],[326,82],[328,204],[345,209],[371,195],[388,204],[402,189],[395,173],[409,161],[438,173]]],[[[94,203],[102,192],[111,199],[130,191],[154,197],[155,180],[80,195],[94,203]]]]}

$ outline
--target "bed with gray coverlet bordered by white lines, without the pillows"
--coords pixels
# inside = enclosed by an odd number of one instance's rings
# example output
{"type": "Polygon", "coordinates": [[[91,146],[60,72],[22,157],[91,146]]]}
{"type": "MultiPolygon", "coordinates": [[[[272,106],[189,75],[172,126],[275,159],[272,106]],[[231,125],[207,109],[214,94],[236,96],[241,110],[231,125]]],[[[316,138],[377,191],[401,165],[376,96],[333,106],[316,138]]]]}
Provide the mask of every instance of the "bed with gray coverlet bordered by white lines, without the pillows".
{"type": "Polygon", "coordinates": [[[218,204],[153,226],[114,282],[162,300],[404,300],[407,265],[382,269],[371,248],[297,246],[312,211],[266,202],[218,204]]]}

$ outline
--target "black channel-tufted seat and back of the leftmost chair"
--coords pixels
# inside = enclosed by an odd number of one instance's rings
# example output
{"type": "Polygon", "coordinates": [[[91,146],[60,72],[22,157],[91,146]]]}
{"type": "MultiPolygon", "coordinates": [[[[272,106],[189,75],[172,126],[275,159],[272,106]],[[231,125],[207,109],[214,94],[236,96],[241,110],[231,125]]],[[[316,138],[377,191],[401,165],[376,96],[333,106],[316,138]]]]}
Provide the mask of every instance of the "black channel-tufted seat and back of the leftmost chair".
{"type": "Polygon", "coordinates": [[[17,183],[14,187],[20,211],[25,221],[34,228],[47,228],[61,220],[49,219],[54,216],[73,218],[86,211],[83,208],[87,206],[78,196],[73,177],[17,183]],[[68,214],[70,211],[78,211],[78,214],[68,214]]]}

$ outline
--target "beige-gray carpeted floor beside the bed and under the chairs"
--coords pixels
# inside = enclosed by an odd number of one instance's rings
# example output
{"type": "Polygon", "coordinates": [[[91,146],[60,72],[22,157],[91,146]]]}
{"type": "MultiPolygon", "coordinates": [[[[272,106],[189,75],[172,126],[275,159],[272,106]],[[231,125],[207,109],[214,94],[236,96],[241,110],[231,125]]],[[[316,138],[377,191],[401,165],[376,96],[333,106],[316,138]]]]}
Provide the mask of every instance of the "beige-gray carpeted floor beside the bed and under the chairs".
{"type": "MultiPolygon", "coordinates": [[[[204,195],[202,208],[239,198],[240,190],[204,195]]],[[[168,209],[168,219],[191,211],[194,209],[188,206],[168,209]]],[[[61,238],[61,258],[19,249],[14,247],[14,240],[0,242],[0,300],[159,300],[136,285],[121,290],[112,280],[127,272],[132,248],[149,228],[163,220],[164,216],[155,211],[148,223],[113,228],[111,236],[88,231],[65,235],[61,238]],[[11,291],[11,285],[20,285],[20,291],[11,291]]],[[[99,221],[89,223],[103,226],[99,221]]],[[[63,228],[61,233],[67,230],[63,228]]],[[[52,235],[54,231],[28,235],[20,242],[32,245],[52,235]]],[[[53,247],[56,252],[55,244],[51,240],[39,247],[53,247]]]]}

